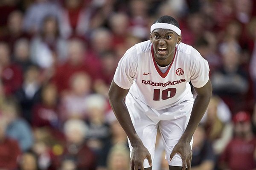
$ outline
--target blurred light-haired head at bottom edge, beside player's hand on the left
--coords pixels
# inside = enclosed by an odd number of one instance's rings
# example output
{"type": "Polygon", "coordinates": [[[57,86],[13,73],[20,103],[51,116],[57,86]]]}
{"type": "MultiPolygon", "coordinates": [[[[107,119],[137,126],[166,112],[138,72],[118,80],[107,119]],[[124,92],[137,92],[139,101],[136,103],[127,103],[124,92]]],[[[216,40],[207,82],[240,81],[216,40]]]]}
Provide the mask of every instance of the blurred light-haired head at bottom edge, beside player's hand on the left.
{"type": "Polygon", "coordinates": [[[115,144],[108,154],[108,170],[130,170],[130,152],[126,144],[115,144]]]}

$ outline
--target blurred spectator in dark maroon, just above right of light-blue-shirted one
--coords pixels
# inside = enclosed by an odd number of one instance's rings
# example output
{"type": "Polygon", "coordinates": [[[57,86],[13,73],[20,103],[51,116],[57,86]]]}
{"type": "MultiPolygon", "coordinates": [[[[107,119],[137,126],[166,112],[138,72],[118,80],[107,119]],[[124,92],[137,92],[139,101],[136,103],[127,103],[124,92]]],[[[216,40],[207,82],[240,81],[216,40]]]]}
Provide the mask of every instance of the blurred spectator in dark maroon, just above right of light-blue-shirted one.
{"type": "Polygon", "coordinates": [[[52,129],[59,128],[59,115],[57,111],[58,92],[53,84],[46,84],[41,90],[41,100],[32,108],[32,126],[52,129]]]}

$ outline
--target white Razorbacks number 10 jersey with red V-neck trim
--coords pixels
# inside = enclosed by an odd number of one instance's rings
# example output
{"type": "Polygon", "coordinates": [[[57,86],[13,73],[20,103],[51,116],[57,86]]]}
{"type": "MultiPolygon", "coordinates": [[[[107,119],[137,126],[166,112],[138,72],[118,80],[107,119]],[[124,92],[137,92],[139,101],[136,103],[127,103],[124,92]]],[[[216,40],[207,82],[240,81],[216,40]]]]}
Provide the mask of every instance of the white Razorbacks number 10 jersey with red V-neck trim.
{"type": "Polygon", "coordinates": [[[194,101],[189,82],[195,88],[209,80],[208,62],[195,48],[180,43],[165,73],[154,59],[150,40],[140,42],[120,59],[113,78],[116,85],[130,89],[129,95],[154,109],[165,109],[183,101],[194,101]]]}

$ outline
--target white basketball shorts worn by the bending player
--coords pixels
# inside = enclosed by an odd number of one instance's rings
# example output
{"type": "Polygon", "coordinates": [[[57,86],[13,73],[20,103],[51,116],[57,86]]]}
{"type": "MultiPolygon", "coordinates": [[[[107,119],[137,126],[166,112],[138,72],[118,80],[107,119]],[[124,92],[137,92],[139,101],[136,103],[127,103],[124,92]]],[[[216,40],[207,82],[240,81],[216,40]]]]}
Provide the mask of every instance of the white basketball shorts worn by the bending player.
{"type": "MultiPolygon", "coordinates": [[[[157,127],[159,127],[169,165],[182,167],[182,159],[178,154],[173,157],[172,161],[169,160],[169,156],[186,129],[193,101],[185,101],[170,108],[155,110],[143,102],[135,100],[128,94],[125,98],[125,103],[131,115],[134,128],[151,154],[151,159],[154,159],[157,127]]],[[[132,151],[131,142],[128,142],[130,151],[132,151]]],[[[191,147],[192,143],[193,140],[190,142],[191,147]]],[[[145,159],[144,168],[147,167],[150,166],[148,160],[145,159]]]]}

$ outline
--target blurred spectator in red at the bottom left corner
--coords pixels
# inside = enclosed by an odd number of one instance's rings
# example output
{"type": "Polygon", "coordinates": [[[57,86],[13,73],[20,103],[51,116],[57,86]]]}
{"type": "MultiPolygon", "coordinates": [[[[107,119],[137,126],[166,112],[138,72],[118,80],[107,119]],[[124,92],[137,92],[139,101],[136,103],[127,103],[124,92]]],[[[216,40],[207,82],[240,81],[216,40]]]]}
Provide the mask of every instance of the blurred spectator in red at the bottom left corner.
{"type": "Polygon", "coordinates": [[[16,170],[21,151],[18,142],[6,136],[6,119],[0,119],[0,169],[16,170]]]}

